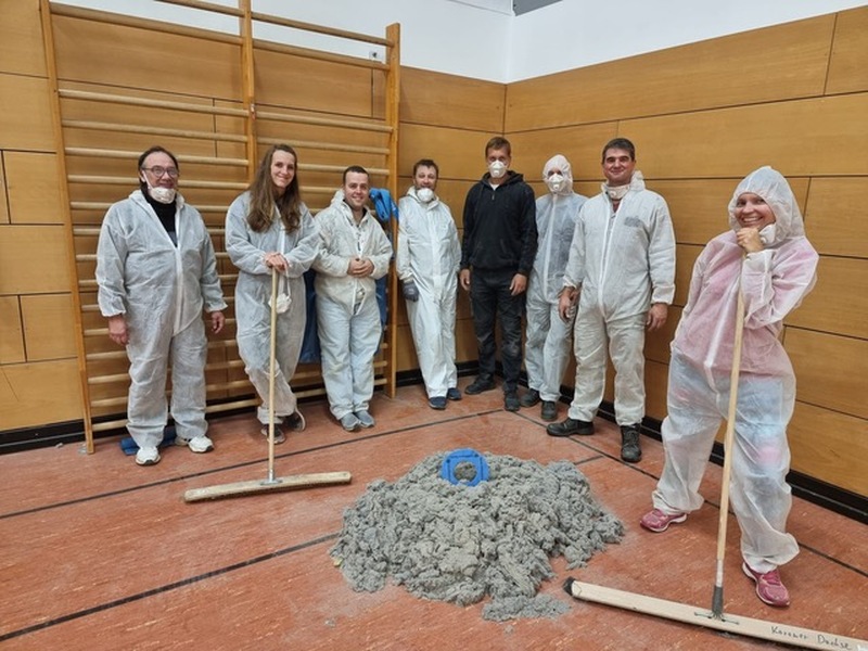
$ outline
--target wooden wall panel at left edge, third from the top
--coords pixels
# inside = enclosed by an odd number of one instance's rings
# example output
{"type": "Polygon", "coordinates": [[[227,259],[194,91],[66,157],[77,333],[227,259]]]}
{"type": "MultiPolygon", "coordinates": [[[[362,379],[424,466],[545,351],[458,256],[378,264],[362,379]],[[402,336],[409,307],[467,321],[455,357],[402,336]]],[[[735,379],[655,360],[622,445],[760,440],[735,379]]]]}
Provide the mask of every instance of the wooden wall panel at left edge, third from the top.
{"type": "Polygon", "coordinates": [[[4,161],[12,224],[63,224],[58,156],[5,152],[4,161]]]}

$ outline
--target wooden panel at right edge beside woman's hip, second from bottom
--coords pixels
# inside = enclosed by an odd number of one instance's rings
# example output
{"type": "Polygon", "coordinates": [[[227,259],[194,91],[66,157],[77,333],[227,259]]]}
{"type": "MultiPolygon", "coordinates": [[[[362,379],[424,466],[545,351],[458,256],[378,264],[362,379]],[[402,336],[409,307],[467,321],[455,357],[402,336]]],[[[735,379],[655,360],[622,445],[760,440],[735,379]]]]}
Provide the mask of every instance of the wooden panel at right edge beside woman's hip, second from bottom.
{"type": "Polygon", "coordinates": [[[784,347],[801,401],[868,419],[868,341],[788,328],[784,347]]]}

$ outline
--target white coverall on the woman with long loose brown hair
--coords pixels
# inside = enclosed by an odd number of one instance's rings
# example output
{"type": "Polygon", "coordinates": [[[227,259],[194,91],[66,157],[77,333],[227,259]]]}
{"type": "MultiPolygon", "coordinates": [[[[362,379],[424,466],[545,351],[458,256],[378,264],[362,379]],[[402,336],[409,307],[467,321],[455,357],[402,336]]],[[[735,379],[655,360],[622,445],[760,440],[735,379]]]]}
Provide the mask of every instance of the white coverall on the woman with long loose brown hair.
{"type": "Polygon", "coordinates": [[[271,268],[265,264],[265,254],[272,251],[282,253],[289,269],[278,279],[278,292],[283,293],[289,284],[291,299],[290,308],[277,315],[275,341],[275,422],[282,423],[283,417],[295,411],[295,394],[290,387],[290,380],[298,365],[307,321],[303,275],[317,257],[319,239],[317,226],[306,205],[302,204],[301,226],[294,232],[284,232],[277,207],[269,229],[256,232],[247,222],[250,203],[250,192],[244,192],[232,202],[226,215],[226,251],[239,269],[235,337],[244,370],[261,400],[256,416],[260,423],[267,424],[271,363],[271,268]]]}

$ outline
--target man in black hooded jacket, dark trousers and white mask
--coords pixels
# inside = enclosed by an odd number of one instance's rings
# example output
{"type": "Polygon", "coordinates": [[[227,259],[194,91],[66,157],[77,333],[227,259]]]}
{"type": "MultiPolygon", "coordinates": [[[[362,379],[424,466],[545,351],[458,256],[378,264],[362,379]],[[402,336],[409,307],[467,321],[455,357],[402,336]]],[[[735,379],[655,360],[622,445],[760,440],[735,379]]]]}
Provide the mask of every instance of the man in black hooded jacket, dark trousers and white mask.
{"type": "Polygon", "coordinates": [[[480,374],[469,395],[495,387],[495,319],[500,319],[503,407],[518,411],[522,368],[522,307],[536,256],[536,202],[524,177],[509,169],[512,150],[506,138],[485,145],[488,171],[464,201],[461,286],[470,291],[480,374]],[[472,273],[471,273],[472,270],[472,273]]]}

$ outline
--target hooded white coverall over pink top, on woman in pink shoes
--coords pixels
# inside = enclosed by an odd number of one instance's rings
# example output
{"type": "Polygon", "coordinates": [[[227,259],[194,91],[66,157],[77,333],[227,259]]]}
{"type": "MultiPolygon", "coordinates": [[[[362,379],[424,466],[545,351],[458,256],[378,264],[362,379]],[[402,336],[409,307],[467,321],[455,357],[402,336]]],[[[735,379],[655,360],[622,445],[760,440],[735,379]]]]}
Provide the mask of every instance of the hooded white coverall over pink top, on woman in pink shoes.
{"type": "MultiPolygon", "coordinates": [[[[661,429],[663,474],[653,494],[665,513],[702,506],[699,485],[714,437],[729,405],[736,304],[741,278],[745,320],[732,450],[730,496],[741,527],[741,553],[757,572],[769,572],[799,553],[784,532],[790,512],[787,424],[795,401],[795,376],[778,340],[782,321],[810,291],[817,253],[787,180],[761,167],[742,180],[729,202],[730,231],[700,254],[690,293],[672,343],[668,416],[661,429]],[[746,257],[736,242],[736,201],[762,196],[775,214],[774,241],[746,257]]],[[[765,230],[765,229],[764,229],[765,230]]]]}

